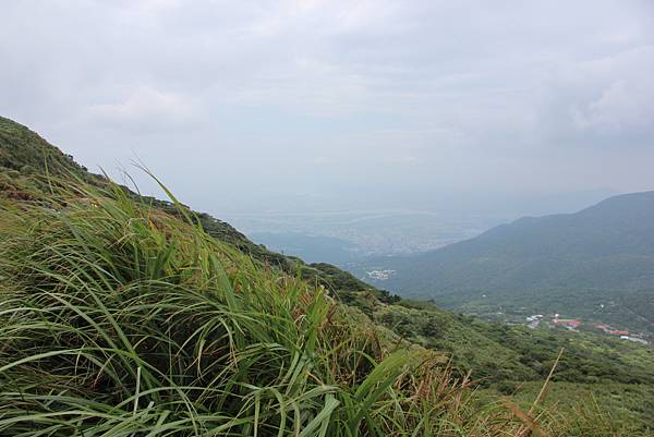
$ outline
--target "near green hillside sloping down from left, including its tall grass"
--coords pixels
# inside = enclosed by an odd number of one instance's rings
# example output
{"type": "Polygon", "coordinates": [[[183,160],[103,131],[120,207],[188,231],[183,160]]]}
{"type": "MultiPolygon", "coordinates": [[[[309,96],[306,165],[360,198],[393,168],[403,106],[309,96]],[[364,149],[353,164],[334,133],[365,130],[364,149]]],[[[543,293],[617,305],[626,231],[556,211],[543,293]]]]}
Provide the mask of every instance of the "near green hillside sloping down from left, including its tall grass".
{"type": "MultiPolygon", "coordinates": [[[[107,411],[120,413],[120,417],[113,417],[113,425],[105,424],[105,429],[128,426],[123,421],[134,421],[130,426],[137,428],[142,424],[136,422],[143,420],[154,430],[158,429],[158,421],[167,423],[166,417],[171,415],[171,420],[197,421],[203,427],[213,426],[211,421],[222,421],[223,425],[238,428],[233,435],[251,435],[252,425],[246,424],[261,414],[262,423],[267,424],[262,429],[278,430],[283,427],[281,417],[287,417],[289,426],[312,424],[334,432],[325,430],[327,434],[323,435],[339,435],[342,430],[338,430],[338,425],[325,425],[328,422],[325,417],[360,429],[356,435],[404,435],[398,428],[390,430],[385,426],[395,423],[412,433],[419,422],[429,435],[435,429],[432,426],[444,426],[448,421],[479,435],[497,435],[499,429],[511,433],[521,426],[520,420],[510,414],[507,417],[508,410],[501,405],[498,410],[498,394],[514,394],[529,409],[530,401],[525,399],[533,401],[538,390],[533,387],[543,383],[561,347],[566,352],[554,376],[555,387],[561,387],[562,391],[593,391],[594,387],[602,387],[608,390],[607,402],[616,397],[625,399],[615,409],[611,405],[613,418],[606,425],[611,433],[629,427],[633,434],[622,435],[646,435],[654,426],[647,415],[654,406],[647,401],[654,399],[654,355],[650,349],[585,333],[530,331],[488,324],[438,309],[429,303],[402,300],[334,266],[307,265],[299,258],[272,253],[250,242],[228,223],[193,213],[174,198],[141,197],[90,174],[34,132],[7,119],[0,120],[0,153],[9,157],[0,171],[3,308],[0,314],[4,314],[0,316],[0,336],[2,344],[7,344],[0,350],[0,380],[15,381],[0,392],[3,435],[12,435],[7,429],[27,433],[22,428],[26,425],[16,422],[16,417],[25,414],[14,405],[16,396],[27,399],[27,410],[46,416],[59,414],[60,408],[86,410],[95,417],[92,422],[100,421],[107,411]],[[16,153],[23,148],[25,153],[16,153]],[[41,165],[44,160],[38,156],[63,156],[64,167],[50,171],[57,163],[41,165]],[[27,162],[31,168],[25,169],[27,162]],[[61,178],[45,178],[46,167],[50,174],[61,178]],[[77,181],[65,175],[69,169],[73,169],[77,181]],[[235,298],[230,290],[237,291],[235,298]],[[205,300],[206,292],[215,294],[216,301],[205,300]],[[60,301],[60,298],[65,299],[60,301]],[[183,305],[180,307],[177,302],[183,305]],[[25,308],[29,312],[23,314],[25,308]],[[11,314],[21,316],[7,316],[11,314]],[[187,324],[189,328],[175,333],[166,320],[174,320],[178,315],[181,318],[174,326],[187,324]],[[270,329],[275,324],[280,325],[270,329]],[[43,338],[57,341],[39,341],[43,338]],[[88,341],[97,344],[96,349],[84,350],[88,371],[80,374],[78,383],[73,377],[69,380],[68,374],[60,372],[78,374],[80,368],[65,354],[73,351],[80,356],[80,348],[85,348],[88,341]],[[173,359],[170,352],[157,349],[159,341],[179,348],[180,357],[173,359]],[[60,349],[49,349],[55,347],[60,349]],[[238,360],[221,361],[211,367],[210,361],[203,357],[205,352],[215,356],[211,354],[228,349],[230,356],[238,360]],[[409,361],[399,360],[393,354],[396,350],[409,361]],[[46,355],[40,357],[43,353],[46,355]],[[263,361],[257,361],[258,353],[263,361]],[[46,360],[48,354],[57,359],[46,360]],[[145,408],[147,399],[138,401],[137,365],[130,362],[131,356],[145,363],[146,367],[140,372],[174,376],[170,387],[158,387],[155,376],[144,375],[143,389],[147,393],[144,397],[157,405],[154,410],[145,408]],[[399,361],[382,366],[387,359],[399,361]],[[33,366],[32,362],[40,364],[33,366]],[[276,368],[274,362],[281,367],[276,368]],[[154,367],[148,369],[150,365],[154,367]],[[425,365],[435,373],[425,373],[425,365]],[[377,366],[390,373],[375,373],[377,366]],[[261,383],[257,376],[261,374],[253,374],[252,368],[267,375],[261,387],[253,388],[253,384],[261,383]],[[408,368],[413,371],[407,373],[408,368]],[[232,374],[233,369],[239,371],[232,374]],[[473,396],[467,389],[471,384],[469,373],[487,398],[473,396]],[[389,378],[389,385],[373,390],[377,386],[365,383],[366,377],[374,375],[371,376],[374,379],[379,374],[389,378]],[[216,385],[207,386],[206,378],[210,380],[207,375],[227,379],[211,380],[216,385]],[[401,384],[393,379],[399,375],[404,378],[401,384]],[[44,383],[43,391],[35,391],[41,387],[41,378],[47,384],[44,383]],[[440,391],[420,392],[428,401],[426,404],[433,402],[447,410],[434,411],[434,422],[421,422],[420,416],[414,422],[425,404],[414,403],[420,399],[415,392],[403,391],[410,387],[426,390],[411,383],[421,378],[439,381],[432,388],[439,387],[440,391]],[[120,388],[123,379],[125,387],[120,388]],[[299,383],[291,384],[294,380],[299,383]],[[523,386],[524,381],[531,386],[523,386]],[[323,391],[331,386],[336,388],[323,391]],[[276,392],[281,390],[279,387],[288,391],[276,392]],[[73,389],[74,397],[62,394],[69,389],[73,389]],[[116,390],[119,392],[114,393],[116,390]],[[185,400],[174,401],[170,390],[178,393],[182,390],[185,400]],[[197,399],[193,390],[201,390],[197,399]],[[213,403],[213,394],[207,390],[235,391],[213,403]],[[443,390],[449,393],[447,399],[443,398],[443,390]],[[156,398],[154,393],[159,391],[165,396],[156,398]],[[25,392],[29,393],[27,398],[25,392]],[[63,396],[55,405],[49,401],[53,392],[63,396]],[[283,400],[278,394],[289,398],[283,400]],[[407,401],[400,402],[399,408],[388,403],[388,399],[407,401]],[[452,399],[469,401],[464,406],[452,399]],[[367,425],[361,425],[364,420],[356,414],[348,416],[356,411],[360,401],[367,425]],[[199,410],[197,416],[189,416],[180,411],[190,405],[210,410],[226,402],[231,402],[229,417],[203,415],[199,410]],[[299,402],[302,418],[289,418],[291,413],[276,402],[299,402]],[[138,418],[130,418],[132,404],[144,406],[138,418]],[[337,409],[337,404],[350,406],[344,411],[337,409]],[[391,410],[395,413],[390,414],[391,410]],[[491,411],[499,416],[491,420],[491,411]],[[375,417],[386,425],[377,423],[375,417]],[[445,422],[438,425],[437,417],[445,422]],[[505,428],[493,428],[498,423],[505,428]],[[370,426],[379,428],[373,434],[370,426]]],[[[584,406],[572,404],[557,413],[544,412],[549,418],[543,416],[543,426],[552,430],[550,435],[591,435],[595,418],[606,412],[584,410],[582,414],[581,408],[584,406]],[[570,414],[571,411],[579,414],[570,414]]],[[[422,411],[420,414],[425,414],[422,411]]],[[[71,423],[84,422],[76,414],[71,423]]],[[[49,422],[46,418],[41,425],[49,422]]],[[[66,426],[73,425],[66,423],[50,422],[58,430],[44,435],[71,435],[66,426]]],[[[89,429],[85,426],[84,435],[90,435],[89,429]]],[[[259,435],[271,434],[262,430],[259,435]]]]}

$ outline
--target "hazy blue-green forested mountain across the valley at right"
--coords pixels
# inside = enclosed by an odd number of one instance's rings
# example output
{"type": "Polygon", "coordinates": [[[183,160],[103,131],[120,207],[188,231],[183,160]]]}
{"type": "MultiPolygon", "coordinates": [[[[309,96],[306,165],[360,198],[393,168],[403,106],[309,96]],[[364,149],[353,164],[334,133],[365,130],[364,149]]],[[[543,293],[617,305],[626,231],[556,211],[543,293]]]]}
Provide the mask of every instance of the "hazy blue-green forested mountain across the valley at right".
{"type": "Polygon", "coordinates": [[[654,331],[654,192],[525,217],[437,251],[387,257],[383,283],[472,313],[561,313],[654,331]]]}

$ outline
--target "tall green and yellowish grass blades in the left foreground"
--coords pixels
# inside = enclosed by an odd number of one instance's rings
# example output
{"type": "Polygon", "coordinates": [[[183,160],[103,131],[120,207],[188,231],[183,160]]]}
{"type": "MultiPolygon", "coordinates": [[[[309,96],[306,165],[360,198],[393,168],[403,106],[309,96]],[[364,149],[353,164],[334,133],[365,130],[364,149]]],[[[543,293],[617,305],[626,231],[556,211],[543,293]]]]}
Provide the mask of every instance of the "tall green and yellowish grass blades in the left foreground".
{"type": "Polygon", "coordinates": [[[323,288],[116,185],[63,185],[0,201],[0,435],[525,435],[323,288]]]}

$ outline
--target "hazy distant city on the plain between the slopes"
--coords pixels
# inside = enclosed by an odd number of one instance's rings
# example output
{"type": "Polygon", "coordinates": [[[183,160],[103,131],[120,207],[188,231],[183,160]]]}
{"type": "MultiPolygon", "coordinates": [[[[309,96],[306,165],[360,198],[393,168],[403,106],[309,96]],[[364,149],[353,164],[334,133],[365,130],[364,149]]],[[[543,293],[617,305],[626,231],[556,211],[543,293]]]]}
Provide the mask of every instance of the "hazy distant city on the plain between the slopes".
{"type": "Polygon", "coordinates": [[[507,220],[504,216],[407,209],[223,216],[253,241],[270,250],[336,265],[370,256],[403,255],[443,247],[507,220]],[[314,256],[316,253],[319,258],[314,256]]]}

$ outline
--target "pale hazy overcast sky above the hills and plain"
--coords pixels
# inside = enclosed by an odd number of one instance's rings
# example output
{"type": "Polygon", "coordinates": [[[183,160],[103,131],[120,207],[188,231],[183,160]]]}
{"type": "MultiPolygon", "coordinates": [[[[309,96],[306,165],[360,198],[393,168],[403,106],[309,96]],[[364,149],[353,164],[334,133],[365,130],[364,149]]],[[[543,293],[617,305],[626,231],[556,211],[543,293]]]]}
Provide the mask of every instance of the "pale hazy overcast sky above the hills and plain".
{"type": "Polygon", "coordinates": [[[22,0],[1,15],[1,114],[92,169],[142,159],[201,209],[654,190],[652,1],[22,0]]]}

